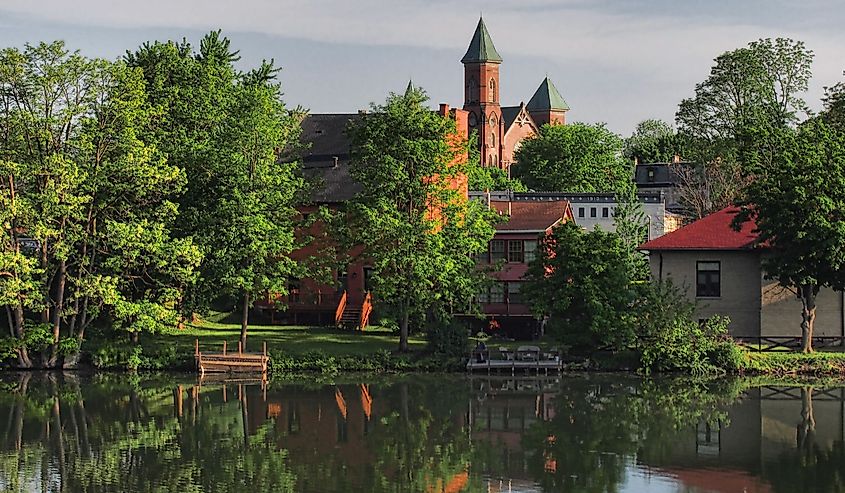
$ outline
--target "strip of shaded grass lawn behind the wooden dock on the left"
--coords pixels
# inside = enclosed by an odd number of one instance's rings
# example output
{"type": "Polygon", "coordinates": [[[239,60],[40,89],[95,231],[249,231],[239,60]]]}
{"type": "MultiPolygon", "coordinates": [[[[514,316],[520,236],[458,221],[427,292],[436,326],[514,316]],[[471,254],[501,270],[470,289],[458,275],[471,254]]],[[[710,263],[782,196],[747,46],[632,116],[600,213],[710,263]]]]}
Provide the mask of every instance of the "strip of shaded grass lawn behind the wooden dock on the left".
{"type": "MultiPolygon", "coordinates": [[[[237,351],[240,325],[213,321],[220,317],[209,318],[197,326],[187,326],[182,330],[155,336],[149,342],[151,345],[175,345],[179,353],[187,351],[193,354],[195,339],[199,339],[201,351],[214,352],[222,351],[223,341],[226,341],[229,351],[237,351]]],[[[265,341],[268,351],[288,354],[316,350],[331,355],[369,354],[380,350],[394,351],[399,347],[399,336],[378,326],[367,327],[361,333],[332,327],[250,325],[246,351],[260,352],[265,341]]],[[[421,336],[412,336],[408,344],[411,350],[421,350],[425,340],[421,336]]]]}

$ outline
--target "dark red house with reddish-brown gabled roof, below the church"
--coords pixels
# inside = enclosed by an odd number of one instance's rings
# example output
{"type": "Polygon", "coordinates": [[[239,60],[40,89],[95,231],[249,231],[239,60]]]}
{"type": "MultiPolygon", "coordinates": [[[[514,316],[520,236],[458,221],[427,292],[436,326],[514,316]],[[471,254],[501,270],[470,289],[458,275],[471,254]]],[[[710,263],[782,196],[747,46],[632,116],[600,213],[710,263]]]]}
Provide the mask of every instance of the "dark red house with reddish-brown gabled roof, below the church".
{"type": "Polygon", "coordinates": [[[490,201],[490,207],[502,215],[496,234],[486,253],[478,256],[482,266],[501,265],[492,273],[493,283],[478,296],[485,327],[519,339],[531,338],[538,320],[531,315],[522,298],[522,286],[528,264],[539,254],[541,235],[552,228],[573,221],[567,200],[542,202],[490,201]]]}

